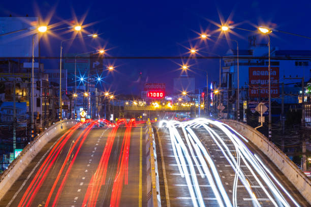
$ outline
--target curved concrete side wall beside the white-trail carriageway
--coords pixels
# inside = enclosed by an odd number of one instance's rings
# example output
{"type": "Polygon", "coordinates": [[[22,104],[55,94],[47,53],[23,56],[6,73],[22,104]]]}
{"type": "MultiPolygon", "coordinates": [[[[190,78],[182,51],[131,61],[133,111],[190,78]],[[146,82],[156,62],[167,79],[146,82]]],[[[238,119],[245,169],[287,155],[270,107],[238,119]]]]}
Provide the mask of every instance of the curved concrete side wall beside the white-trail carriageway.
{"type": "Polygon", "coordinates": [[[270,158],[278,169],[281,170],[288,180],[297,188],[301,195],[311,204],[311,181],[284,152],[279,150],[273,143],[269,142],[265,135],[251,126],[235,120],[222,120],[222,122],[230,125],[255,144],[270,158]]]}

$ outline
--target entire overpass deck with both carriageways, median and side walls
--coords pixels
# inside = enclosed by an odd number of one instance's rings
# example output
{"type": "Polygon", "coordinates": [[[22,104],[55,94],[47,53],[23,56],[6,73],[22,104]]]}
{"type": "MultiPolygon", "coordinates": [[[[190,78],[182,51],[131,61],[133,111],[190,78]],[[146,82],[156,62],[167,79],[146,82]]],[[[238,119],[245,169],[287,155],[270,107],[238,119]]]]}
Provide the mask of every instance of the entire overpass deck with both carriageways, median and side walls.
{"type": "Polygon", "coordinates": [[[310,180],[243,123],[101,125],[37,136],[1,175],[0,206],[310,206],[310,180]]]}

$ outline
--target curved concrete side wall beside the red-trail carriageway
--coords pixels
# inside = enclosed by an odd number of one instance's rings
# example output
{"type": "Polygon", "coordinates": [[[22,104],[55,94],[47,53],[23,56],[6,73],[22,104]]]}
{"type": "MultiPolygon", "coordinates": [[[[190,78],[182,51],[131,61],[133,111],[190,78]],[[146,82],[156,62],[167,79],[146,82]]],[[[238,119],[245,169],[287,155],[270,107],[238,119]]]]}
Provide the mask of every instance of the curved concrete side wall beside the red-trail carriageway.
{"type": "Polygon", "coordinates": [[[0,176],[0,199],[7,193],[14,182],[19,178],[33,158],[41,151],[41,149],[61,131],[67,130],[74,126],[78,121],[63,120],[56,122],[45,131],[36,136],[35,140],[30,142],[19,156],[9,165],[0,176]]]}

